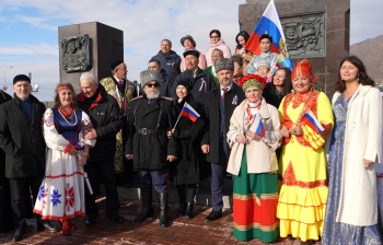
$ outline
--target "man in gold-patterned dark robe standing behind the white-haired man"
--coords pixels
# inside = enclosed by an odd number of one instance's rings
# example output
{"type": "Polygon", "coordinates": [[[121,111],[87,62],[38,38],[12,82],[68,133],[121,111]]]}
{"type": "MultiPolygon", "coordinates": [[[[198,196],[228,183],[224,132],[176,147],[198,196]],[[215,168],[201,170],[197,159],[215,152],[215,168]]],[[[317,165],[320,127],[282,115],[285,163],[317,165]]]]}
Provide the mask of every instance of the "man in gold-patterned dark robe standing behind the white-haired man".
{"type": "MultiPolygon", "coordinates": [[[[127,80],[128,73],[127,66],[123,60],[115,60],[111,65],[112,77],[105,78],[100,81],[100,84],[104,86],[106,93],[114,96],[121,109],[123,116],[126,116],[131,100],[135,97],[136,85],[127,80]]],[[[115,172],[118,173],[117,184],[118,185],[131,185],[132,180],[132,167],[131,163],[127,162],[123,155],[124,145],[123,142],[126,140],[126,124],[123,122],[121,130],[116,135],[116,152],[114,166],[115,172]]]]}

